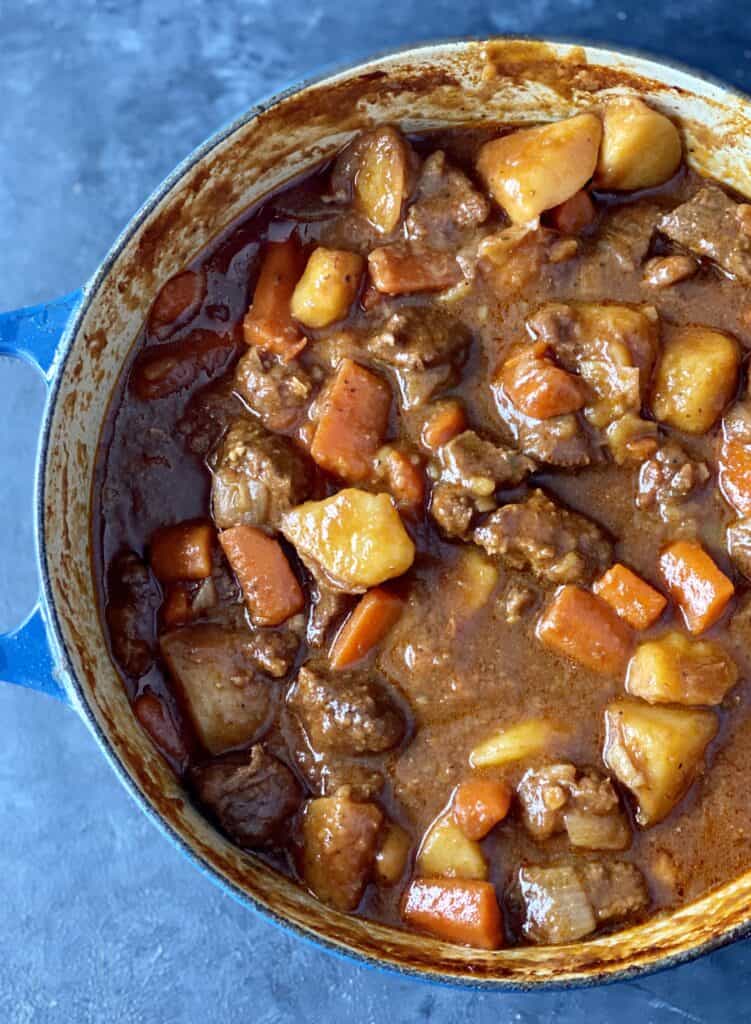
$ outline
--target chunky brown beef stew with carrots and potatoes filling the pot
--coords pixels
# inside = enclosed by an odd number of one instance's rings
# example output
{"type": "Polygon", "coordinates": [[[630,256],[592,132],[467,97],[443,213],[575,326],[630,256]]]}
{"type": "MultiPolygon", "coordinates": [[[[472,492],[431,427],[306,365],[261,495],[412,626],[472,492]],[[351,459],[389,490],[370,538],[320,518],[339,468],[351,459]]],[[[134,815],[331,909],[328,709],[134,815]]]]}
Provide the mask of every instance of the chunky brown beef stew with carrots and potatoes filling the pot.
{"type": "Polygon", "coordinates": [[[751,206],[621,97],[372,128],[164,285],[102,608],[216,827],[491,949],[751,866],[750,280],[751,206]]]}

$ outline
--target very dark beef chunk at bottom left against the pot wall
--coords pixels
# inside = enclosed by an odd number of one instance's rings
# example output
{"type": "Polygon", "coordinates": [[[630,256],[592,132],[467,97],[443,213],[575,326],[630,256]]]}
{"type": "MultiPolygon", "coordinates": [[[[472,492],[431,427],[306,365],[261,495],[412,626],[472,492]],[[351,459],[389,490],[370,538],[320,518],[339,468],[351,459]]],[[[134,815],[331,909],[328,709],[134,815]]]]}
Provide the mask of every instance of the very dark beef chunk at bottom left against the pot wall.
{"type": "Polygon", "coordinates": [[[251,850],[282,841],[302,800],[289,768],[259,743],[246,764],[200,766],[193,782],[199,801],[223,831],[251,850]]]}

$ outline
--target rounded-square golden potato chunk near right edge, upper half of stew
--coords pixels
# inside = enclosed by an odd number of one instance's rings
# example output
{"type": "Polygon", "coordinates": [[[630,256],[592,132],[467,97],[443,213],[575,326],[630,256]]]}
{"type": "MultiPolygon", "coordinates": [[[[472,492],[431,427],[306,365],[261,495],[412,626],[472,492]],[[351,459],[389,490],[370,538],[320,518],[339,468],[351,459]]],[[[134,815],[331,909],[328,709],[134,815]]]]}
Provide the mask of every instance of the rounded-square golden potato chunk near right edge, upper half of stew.
{"type": "Polygon", "coordinates": [[[674,328],[657,368],[655,416],[686,433],[706,433],[735,394],[740,364],[731,335],[699,324],[674,328]]]}

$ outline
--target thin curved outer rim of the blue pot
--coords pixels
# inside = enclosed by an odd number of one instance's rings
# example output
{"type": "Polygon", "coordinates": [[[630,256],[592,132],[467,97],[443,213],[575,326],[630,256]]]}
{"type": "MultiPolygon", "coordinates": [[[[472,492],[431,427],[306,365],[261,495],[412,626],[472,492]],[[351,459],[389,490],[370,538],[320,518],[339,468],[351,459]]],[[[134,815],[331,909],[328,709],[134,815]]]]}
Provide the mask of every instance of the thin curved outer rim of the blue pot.
{"type": "MultiPolygon", "coordinates": [[[[141,811],[145,813],[149,819],[167,837],[167,839],[171,841],[171,843],[179,848],[181,853],[187,857],[189,860],[195,864],[195,866],[202,873],[208,876],[215,885],[217,885],[227,895],[233,897],[233,899],[237,902],[242,903],[245,907],[255,910],[278,928],[288,932],[291,931],[306,942],[319,948],[323,948],[327,952],[334,953],[344,959],[356,961],[367,967],[378,968],[382,971],[387,971],[397,975],[415,978],[423,983],[441,984],[450,988],[484,991],[562,991],[572,988],[592,988],[595,986],[614,984],[616,982],[629,981],[636,977],[645,977],[648,975],[658,974],[670,968],[678,967],[698,959],[700,956],[704,956],[707,953],[731,945],[739,939],[750,936],[751,909],[749,910],[747,921],[742,922],[735,927],[728,928],[726,931],[718,934],[714,938],[708,939],[706,942],[700,943],[689,949],[680,950],[674,953],[666,953],[664,956],[661,956],[660,958],[649,964],[637,964],[632,967],[623,967],[603,974],[596,974],[592,972],[592,974],[588,977],[564,978],[560,980],[543,979],[531,982],[517,981],[507,977],[472,978],[468,975],[454,973],[453,971],[449,972],[446,970],[433,969],[429,966],[411,966],[399,963],[395,959],[362,952],[345,945],[343,942],[339,942],[319,931],[316,931],[312,928],[307,928],[296,922],[290,921],[289,919],[278,913],[272,906],[262,902],[257,896],[250,895],[239,886],[228,881],[216,867],[212,865],[207,857],[194,850],[191,844],[161,814],[158,813],[151,801],[141,792],[136,781],[124,767],[107,733],[97,722],[91,708],[89,707],[83,687],[81,686],[81,683],[79,682],[73,669],[73,665],[62,638],[60,624],[52,597],[45,544],[46,528],[44,510],[46,495],[44,469],[47,462],[52,416],[56,407],[61,380],[68,366],[68,358],[71,353],[73,343],[78,336],[79,328],[83,323],[91,303],[95,299],[101,285],[108,279],[118,257],[121,255],[132,236],[138,230],[138,228],[151,216],[153,211],[169,195],[169,193],[179,184],[182,177],[213,150],[230,138],[236,131],[251,123],[263,113],[277,106],[289,97],[304,91],[305,89],[312,86],[326,85],[329,81],[334,80],[339,76],[365,70],[370,65],[378,63],[379,61],[387,60],[393,57],[410,56],[413,54],[417,56],[427,50],[451,49],[453,47],[461,47],[466,44],[490,44],[496,41],[506,43],[541,43],[551,44],[553,46],[582,46],[589,50],[592,56],[601,54],[616,57],[635,57],[637,59],[649,61],[655,65],[658,69],[662,68],[678,71],[686,76],[690,76],[696,81],[712,85],[716,89],[720,90],[724,95],[743,99],[751,104],[751,95],[741,89],[727,85],[720,78],[706,72],[697,71],[690,65],[683,63],[679,60],[664,59],[658,54],[646,50],[603,43],[601,41],[589,40],[583,37],[546,36],[543,38],[518,34],[448,37],[414,44],[406,44],[401,47],[378,51],[371,56],[364,57],[359,60],[346,63],[331,63],[324,66],[319,73],[297,80],[284,86],[282,89],[264,96],[256,103],[253,103],[243,114],[240,114],[238,117],[217,129],[216,132],[208,136],[208,138],[200,143],[200,145],[193,150],[174,167],[174,169],[160,182],[159,185],[157,185],[157,187],[151,193],[138,210],[129,219],[125,227],[115,239],[113,245],[92,276],[84,285],[82,289],[81,301],[75,309],[71,319],[68,322],[55,352],[52,368],[52,379],[50,381],[44,408],[36,459],[37,465],[34,494],[35,534],[37,537],[37,560],[39,563],[39,573],[41,580],[41,603],[44,609],[44,618],[52,651],[52,660],[56,667],[56,671],[60,674],[64,680],[65,688],[68,695],[72,698],[73,707],[93,733],[94,738],[105,754],[110,766],[118,776],[120,782],[125,786],[129,795],[139,806],[141,811]]],[[[704,895],[706,896],[706,894],[704,895]]]]}

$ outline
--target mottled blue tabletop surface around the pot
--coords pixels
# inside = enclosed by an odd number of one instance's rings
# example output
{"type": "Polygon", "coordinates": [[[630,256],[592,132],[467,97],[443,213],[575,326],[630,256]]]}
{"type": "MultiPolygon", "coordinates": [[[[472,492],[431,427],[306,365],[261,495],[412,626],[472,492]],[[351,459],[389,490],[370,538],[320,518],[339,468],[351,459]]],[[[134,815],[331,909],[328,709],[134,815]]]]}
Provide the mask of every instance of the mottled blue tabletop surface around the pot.
{"type": "MultiPolygon", "coordinates": [[[[0,0],[0,309],[91,273],[179,159],[324,63],[447,35],[581,36],[751,86],[733,0],[0,0]]],[[[25,502],[41,389],[0,360],[0,626],[33,601],[25,502]]],[[[132,805],[75,716],[0,688],[0,1022],[747,1019],[751,945],[604,989],[428,987],[335,959],[222,896],[132,805]]]]}

